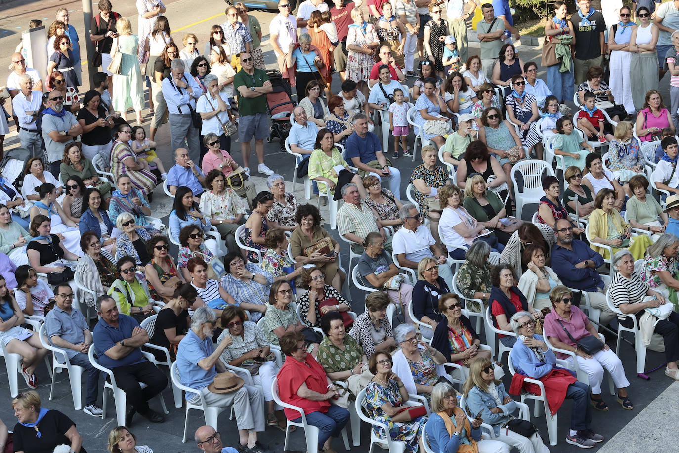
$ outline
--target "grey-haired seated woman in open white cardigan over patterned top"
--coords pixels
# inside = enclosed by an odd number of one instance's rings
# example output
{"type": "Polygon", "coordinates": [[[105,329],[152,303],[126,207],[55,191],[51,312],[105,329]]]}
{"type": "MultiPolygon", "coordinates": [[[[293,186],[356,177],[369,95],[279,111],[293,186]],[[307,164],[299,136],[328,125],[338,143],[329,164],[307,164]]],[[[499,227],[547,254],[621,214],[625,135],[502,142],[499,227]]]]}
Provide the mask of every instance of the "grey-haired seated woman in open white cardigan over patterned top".
{"type": "Polygon", "coordinates": [[[445,372],[445,356],[433,346],[418,341],[412,324],[401,324],[394,329],[394,340],[401,349],[394,355],[394,373],[408,393],[417,393],[431,401],[431,392],[441,378],[451,380],[445,372]]]}

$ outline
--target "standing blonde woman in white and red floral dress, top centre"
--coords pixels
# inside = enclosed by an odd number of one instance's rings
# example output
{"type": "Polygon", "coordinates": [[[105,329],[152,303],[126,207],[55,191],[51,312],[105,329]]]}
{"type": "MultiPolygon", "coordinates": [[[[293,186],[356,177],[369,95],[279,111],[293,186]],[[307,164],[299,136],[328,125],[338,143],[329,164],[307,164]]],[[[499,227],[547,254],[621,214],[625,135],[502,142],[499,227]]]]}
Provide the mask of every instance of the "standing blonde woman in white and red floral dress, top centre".
{"type": "Polygon", "coordinates": [[[380,46],[380,38],[375,32],[373,24],[363,20],[361,8],[351,10],[351,18],[354,23],[349,26],[346,37],[346,49],[348,50],[346,78],[355,81],[365,95],[368,91],[367,79],[375,64],[373,54],[375,49],[380,46]]]}

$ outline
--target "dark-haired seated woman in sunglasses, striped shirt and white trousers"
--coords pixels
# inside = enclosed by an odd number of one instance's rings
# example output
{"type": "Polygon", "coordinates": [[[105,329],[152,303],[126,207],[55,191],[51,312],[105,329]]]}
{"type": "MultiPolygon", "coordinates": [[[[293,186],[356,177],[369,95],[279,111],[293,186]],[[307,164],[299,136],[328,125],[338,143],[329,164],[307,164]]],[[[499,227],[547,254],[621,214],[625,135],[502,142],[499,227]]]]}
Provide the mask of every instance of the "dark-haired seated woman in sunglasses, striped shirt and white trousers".
{"type": "Polygon", "coordinates": [[[224,331],[219,335],[217,344],[227,336],[233,340],[221,353],[221,359],[234,367],[255,372],[252,376],[253,382],[255,385],[261,385],[264,391],[267,426],[285,431],[287,424],[285,414],[282,407],[274,404],[274,395],[271,393],[271,384],[280,367],[277,361],[269,359],[271,346],[264,338],[264,332],[257,324],[245,320],[245,311],[239,306],[229,305],[221,312],[221,326],[224,327],[224,331]]]}

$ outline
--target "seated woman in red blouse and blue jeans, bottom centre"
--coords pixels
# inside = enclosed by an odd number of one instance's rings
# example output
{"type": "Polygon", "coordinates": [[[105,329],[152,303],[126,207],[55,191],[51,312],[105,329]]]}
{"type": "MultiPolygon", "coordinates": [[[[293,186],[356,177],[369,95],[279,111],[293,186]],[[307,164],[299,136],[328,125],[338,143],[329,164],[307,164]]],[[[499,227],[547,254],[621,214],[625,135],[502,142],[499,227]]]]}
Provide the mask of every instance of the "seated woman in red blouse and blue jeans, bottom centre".
{"type": "MultiPolygon", "coordinates": [[[[278,372],[280,399],[304,410],[306,421],[318,427],[318,450],[335,452],[331,448],[333,437],[342,432],[349,421],[349,411],[331,405],[329,399],[339,392],[312,355],[306,352],[304,334],[299,331],[285,333],[278,342],[287,359],[278,372]]],[[[301,421],[299,411],[285,407],[285,416],[293,422],[301,421]]]]}

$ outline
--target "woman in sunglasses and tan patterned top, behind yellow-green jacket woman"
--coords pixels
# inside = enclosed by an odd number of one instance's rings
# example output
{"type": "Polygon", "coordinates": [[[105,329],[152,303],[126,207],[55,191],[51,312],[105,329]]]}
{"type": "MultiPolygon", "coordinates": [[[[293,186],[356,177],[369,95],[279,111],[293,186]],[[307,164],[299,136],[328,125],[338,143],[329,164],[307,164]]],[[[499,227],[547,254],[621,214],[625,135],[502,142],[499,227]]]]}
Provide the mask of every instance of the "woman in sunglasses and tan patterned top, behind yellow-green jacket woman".
{"type": "Polygon", "coordinates": [[[179,274],[175,261],[168,256],[170,242],[165,236],[153,236],[146,242],[146,250],[151,257],[145,266],[144,274],[149,282],[151,297],[158,302],[168,302],[175,294],[177,283],[184,278],[179,274]]]}

